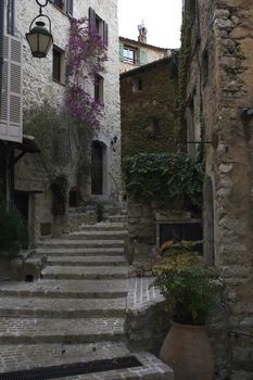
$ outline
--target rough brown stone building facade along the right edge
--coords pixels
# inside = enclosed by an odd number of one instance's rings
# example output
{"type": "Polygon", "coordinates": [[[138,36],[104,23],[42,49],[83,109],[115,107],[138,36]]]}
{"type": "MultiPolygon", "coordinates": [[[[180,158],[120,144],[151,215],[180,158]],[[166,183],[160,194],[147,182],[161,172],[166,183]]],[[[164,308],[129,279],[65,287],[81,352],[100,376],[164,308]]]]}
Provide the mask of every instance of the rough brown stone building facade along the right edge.
{"type": "MultiPolygon", "coordinates": [[[[253,3],[185,1],[185,122],[205,147],[205,258],[223,287],[210,331],[216,379],[253,378],[253,3]]],[[[193,147],[193,148],[192,148],[193,147]]]]}

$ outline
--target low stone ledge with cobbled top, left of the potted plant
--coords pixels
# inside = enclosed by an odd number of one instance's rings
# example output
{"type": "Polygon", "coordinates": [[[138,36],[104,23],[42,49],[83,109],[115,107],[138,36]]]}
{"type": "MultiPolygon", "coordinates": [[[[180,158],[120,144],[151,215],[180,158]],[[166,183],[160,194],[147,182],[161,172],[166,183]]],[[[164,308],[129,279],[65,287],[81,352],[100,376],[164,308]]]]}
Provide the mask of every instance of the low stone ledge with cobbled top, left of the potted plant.
{"type": "Polygon", "coordinates": [[[157,354],[169,329],[164,297],[152,287],[154,278],[131,278],[127,296],[126,334],[131,350],[157,354]]]}

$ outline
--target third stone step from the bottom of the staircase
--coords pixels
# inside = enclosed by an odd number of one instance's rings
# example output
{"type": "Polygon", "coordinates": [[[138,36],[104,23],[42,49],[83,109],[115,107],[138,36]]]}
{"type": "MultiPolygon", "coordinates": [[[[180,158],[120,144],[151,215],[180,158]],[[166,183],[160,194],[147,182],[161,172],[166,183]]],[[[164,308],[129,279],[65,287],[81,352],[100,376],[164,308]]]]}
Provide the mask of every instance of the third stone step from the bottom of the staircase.
{"type": "Polygon", "coordinates": [[[126,299],[49,299],[0,296],[0,317],[99,318],[124,317],[126,299]]]}

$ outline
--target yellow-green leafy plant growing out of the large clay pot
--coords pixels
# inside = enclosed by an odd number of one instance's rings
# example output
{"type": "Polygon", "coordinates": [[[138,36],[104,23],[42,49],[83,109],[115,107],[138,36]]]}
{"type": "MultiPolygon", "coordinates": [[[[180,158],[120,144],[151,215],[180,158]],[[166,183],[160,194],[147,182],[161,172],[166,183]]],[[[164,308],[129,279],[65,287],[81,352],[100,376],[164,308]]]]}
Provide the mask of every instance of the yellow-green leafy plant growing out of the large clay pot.
{"type": "Polygon", "coordinates": [[[188,325],[203,325],[214,299],[216,273],[195,251],[198,244],[168,241],[153,265],[153,284],[165,296],[167,311],[175,321],[188,325]]]}

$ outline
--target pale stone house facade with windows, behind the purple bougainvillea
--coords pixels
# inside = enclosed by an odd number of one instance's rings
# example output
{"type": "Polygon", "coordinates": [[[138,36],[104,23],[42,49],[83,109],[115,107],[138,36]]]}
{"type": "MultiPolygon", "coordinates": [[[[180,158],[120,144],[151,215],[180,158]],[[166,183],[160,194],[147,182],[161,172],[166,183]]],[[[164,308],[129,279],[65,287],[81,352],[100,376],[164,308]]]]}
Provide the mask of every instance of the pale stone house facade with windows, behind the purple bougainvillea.
{"type": "MultiPolygon", "coordinates": [[[[99,191],[92,193],[92,181],[87,173],[78,192],[83,201],[89,200],[118,200],[121,197],[121,122],[119,122],[119,69],[118,69],[118,24],[117,24],[117,1],[105,2],[99,0],[75,0],[50,1],[43,9],[52,23],[53,49],[48,56],[38,60],[31,56],[25,34],[28,31],[31,20],[38,14],[38,7],[34,0],[16,2],[15,34],[23,39],[24,48],[24,73],[23,73],[23,98],[24,110],[41,105],[45,102],[50,104],[55,112],[64,107],[67,90],[67,45],[72,17],[89,17],[89,9],[93,10],[97,24],[107,28],[107,61],[102,77],[102,96],[104,114],[100,119],[100,126],[96,130],[91,147],[88,147],[91,154],[97,149],[100,165],[99,191]],[[71,13],[69,13],[71,12],[71,13]],[[54,60],[58,60],[61,73],[59,77],[53,74],[54,60]]],[[[104,33],[104,29],[103,29],[104,33]]],[[[87,83],[88,91],[93,98],[94,85],[87,83]]],[[[49,126],[50,128],[50,126],[49,126]]],[[[66,163],[65,173],[68,179],[69,189],[77,189],[77,174],[75,168],[75,152],[72,163],[66,163]]],[[[90,159],[91,160],[91,159],[90,159]]],[[[91,167],[92,173],[92,167],[91,167]]],[[[33,220],[34,236],[37,239],[41,233],[53,231],[53,216],[51,213],[52,194],[50,183],[41,165],[39,155],[26,154],[15,168],[15,191],[20,194],[27,194],[30,220],[33,220]],[[51,227],[50,227],[51,226],[51,227]]]]}

